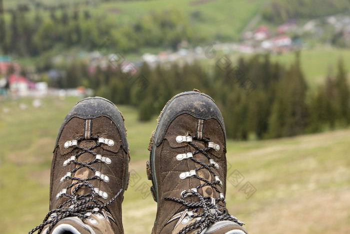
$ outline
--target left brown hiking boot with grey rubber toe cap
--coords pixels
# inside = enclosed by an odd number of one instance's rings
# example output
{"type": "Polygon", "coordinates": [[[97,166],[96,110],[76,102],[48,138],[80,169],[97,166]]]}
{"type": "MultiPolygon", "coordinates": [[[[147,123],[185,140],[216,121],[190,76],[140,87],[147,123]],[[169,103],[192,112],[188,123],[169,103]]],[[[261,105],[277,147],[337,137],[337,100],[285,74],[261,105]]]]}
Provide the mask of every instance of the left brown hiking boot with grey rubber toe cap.
{"type": "Polygon", "coordinates": [[[29,233],[123,233],[128,180],[123,117],[104,98],[85,98],[65,117],[53,151],[49,212],[29,233]]]}

